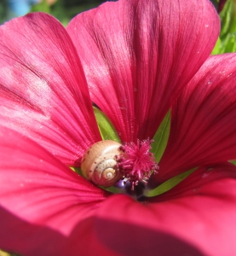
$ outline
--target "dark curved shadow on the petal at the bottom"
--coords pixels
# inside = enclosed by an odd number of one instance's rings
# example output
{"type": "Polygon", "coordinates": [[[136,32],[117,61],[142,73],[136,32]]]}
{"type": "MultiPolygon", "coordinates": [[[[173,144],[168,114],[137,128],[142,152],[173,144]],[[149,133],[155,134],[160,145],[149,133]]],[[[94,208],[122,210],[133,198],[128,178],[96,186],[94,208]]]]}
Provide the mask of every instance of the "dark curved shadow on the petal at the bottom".
{"type": "Polygon", "coordinates": [[[161,230],[98,218],[96,231],[101,243],[121,255],[203,256],[197,247],[161,230]],[[127,230],[130,230],[127,236],[127,230]]]}

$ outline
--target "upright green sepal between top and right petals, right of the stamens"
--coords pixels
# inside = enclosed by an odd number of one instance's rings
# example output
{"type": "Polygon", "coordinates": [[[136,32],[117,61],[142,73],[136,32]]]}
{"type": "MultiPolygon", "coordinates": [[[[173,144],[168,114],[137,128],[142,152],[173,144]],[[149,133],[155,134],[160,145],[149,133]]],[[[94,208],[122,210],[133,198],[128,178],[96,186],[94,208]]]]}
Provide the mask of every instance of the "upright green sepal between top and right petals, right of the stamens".
{"type": "Polygon", "coordinates": [[[163,121],[158,127],[158,131],[153,137],[154,143],[152,144],[152,152],[155,156],[155,160],[159,162],[162,155],[164,154],[164,149],[167,145],[170,135],[170,110],[165,115],[163,121]]]}

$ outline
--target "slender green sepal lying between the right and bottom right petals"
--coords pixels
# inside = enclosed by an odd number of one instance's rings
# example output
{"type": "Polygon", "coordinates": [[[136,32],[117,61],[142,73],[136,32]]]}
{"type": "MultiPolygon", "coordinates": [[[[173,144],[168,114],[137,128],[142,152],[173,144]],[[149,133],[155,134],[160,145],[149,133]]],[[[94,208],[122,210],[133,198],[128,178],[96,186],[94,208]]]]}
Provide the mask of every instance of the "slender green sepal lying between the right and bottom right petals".
{"type": "Polygon", "coordinates": [[[164,192],[174,188],[178,183],[181,183],[182,180],[184,180],[188,175],[193,173],[196,169],[197,168],[193,168],[187,172],[176,175],[175,177],[171,177],[166,182],[160,184],[156,189],[145,191],[145,195],[148,197],[152,197],[163,194],[164,192]]]}

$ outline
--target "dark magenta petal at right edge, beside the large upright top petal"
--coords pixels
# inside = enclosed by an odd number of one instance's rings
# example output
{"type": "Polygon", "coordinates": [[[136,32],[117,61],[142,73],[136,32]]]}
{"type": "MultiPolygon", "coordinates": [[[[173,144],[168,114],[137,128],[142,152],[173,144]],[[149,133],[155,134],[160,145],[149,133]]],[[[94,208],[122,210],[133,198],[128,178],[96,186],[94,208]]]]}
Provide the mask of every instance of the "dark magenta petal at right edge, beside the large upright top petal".
{"type": "Polygon", "coordinates": [[[155,183],[236,159],[236,55],[211,56],[172,108],[170,138],[155,183]]]}

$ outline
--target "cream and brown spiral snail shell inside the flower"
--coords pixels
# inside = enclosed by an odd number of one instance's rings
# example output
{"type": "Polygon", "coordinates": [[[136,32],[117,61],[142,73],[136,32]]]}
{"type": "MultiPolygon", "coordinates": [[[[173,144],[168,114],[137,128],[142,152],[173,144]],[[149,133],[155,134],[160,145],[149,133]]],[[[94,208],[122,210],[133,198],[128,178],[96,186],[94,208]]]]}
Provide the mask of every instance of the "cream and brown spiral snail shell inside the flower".
{"type": "Polygon", "coordinates": [[[101,141],[93,144],[83,155],[83,176],[98,186],[111,187],[122,177],[116,168],[116,155],[121,154],[120,143],[101,141]]]}

